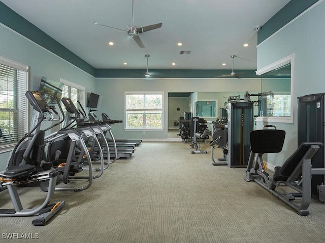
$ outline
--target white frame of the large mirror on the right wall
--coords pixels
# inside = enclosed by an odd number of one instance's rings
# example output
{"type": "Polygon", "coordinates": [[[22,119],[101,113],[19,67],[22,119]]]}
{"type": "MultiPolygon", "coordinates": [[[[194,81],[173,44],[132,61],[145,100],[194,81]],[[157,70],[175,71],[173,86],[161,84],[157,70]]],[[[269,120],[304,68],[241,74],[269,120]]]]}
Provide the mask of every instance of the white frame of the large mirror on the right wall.
{"type": "MultiPolygon", "coordinates": [[[[291,115],[290,116],[257,116],[256,121],[274,122],[274,123],[294,123],[294,83],[295,83],[295,54],[291,54],[279,61],[276,61],[266,67],[258,69],[256,75],[263,75],[274,69],[280,68],[286,64],[291,63],[291,82],[290,82],[290,95],[291,95],[291,115]]],[[[263,82],[263,79],[262,81],[263,82]]],[[[262,85],[261,85],[262,86],[262,85]]]]}

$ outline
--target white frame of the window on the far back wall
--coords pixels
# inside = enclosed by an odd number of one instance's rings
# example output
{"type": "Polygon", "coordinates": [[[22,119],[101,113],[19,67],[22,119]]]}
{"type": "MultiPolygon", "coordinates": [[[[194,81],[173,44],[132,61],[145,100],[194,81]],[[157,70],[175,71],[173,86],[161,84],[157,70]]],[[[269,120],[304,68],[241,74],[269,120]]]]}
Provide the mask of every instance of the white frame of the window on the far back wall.
{"type": "MultiPolygon", "coordinates": [[[[164,112],[165,112],[165,105],[164,105],[164,91],[157,91],[157,92],[124,92],[124,130],[125,131],[163,131],[164,130],[164,112]],[[127,128],[127,111],[132,110],[126,110],[126,96],[127,95],[161,95],[161,128],[127,128]]],[[[139,111],[142,111],[145,109],[141,109],[139,111]]],[[[153,110],[153,109],[148,109],[153,110]]]]}

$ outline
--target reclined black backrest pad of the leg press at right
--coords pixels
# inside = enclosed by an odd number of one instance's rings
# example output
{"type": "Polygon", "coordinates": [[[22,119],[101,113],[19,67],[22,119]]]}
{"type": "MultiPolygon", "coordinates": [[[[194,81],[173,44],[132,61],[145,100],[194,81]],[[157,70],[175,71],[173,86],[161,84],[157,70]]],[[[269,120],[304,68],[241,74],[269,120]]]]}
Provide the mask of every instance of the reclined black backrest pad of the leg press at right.
{"type": "MultiPolygon", "coordinates": [[[[291,154],[290,157],[285,160],[283,166],[281,167],[280,174],[283,176],[290,176],[291,173],[295,170],[295,168],[299,165],[301,159],[304,158],[306,152],[310,148],[311,145],[318,145],[322,146],[322,143],[302,143],[297,148],[297,150],[291,154]]],[[[316,153],[313,154],[311,159],[316,155],[316,153]]]]}

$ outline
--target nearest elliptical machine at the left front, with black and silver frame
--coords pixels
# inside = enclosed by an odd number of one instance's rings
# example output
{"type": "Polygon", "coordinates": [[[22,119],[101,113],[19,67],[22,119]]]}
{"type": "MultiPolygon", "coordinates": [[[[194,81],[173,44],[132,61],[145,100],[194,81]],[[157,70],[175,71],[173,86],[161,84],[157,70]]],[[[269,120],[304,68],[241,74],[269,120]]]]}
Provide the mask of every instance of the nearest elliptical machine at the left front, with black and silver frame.
{"type": "Polygon", "coordinates": [[[59,172],[52,168],[51,163],[43,160],[45,132],[39,129],[46,118],[45,113],[50,115],[49,119],[54,119],[54,116],[40,93],[27,91],[26,97],[40,115],[34,128],[26,133],[13,149],[6,170],[0,173],[0,185],[7,188],[14,207],[0,209],[0,217],[38,216],[32,220],[32,224],[45,225],[65,205],[64,200],[49,204],[55,192],[59,172]],[[49,184],[45,200],[39,207],[23,209],[17,186],[41,181],[48,181],[49,184]]]}

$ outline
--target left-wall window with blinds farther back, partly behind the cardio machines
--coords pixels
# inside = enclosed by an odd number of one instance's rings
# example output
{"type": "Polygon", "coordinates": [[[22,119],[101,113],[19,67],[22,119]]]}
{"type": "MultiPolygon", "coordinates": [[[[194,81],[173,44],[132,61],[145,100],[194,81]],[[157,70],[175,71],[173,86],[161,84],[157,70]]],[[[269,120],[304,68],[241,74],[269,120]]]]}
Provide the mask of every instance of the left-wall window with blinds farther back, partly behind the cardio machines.
{"type": "MultiPolygon", "coordinates": [[[[60,81],[64,84],[63,89],[62,89],[62,96],[66,98],[70,98],[74,105],[77,107],[77,109],[81,110],[80,105],[78,104],[78,100],[81,103],[82,107],[85,107],[85,87],[74,84],[68,80],[65,80],[63,78],[60,79],[60,81]]],[[[62,110],[64,112],[66,111],[66,108],[64,108],[64,105],[62,105],[62,110]]],[[[67,117],[66,117],[67,119],[67,117]]],[[[62,124],[64,126],[64,123],[62,124]]]]}

